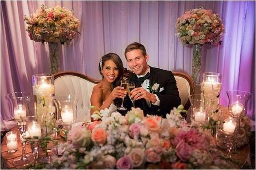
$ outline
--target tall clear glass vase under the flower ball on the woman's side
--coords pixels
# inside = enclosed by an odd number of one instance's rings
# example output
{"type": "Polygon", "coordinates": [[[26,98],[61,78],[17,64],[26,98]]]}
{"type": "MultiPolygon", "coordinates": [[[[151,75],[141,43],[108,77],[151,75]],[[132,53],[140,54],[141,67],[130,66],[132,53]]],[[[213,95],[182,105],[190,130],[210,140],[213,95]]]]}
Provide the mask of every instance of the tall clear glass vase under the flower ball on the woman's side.
{"type": "Polygon", "coordinates": [[[50,71],[51,74],[59,72],[59,43],[49,42],[50,71]]]}

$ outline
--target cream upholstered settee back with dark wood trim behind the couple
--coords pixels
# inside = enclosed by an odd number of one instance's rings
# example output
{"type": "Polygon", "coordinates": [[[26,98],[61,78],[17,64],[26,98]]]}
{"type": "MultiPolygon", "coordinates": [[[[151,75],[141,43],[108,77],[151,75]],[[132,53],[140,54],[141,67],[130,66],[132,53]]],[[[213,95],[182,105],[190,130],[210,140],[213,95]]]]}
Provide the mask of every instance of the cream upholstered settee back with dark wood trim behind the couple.
{"type": "MultiPolygon", "coordinates": [[[[190,76],[180,72],[173,72],[181,97],[181,104],[187,110],[190,107],[188,96],[194,94],[194,82],[190,76]]],[[[90,97],[94,85],[99,80],[94,80],[76,72],[60,72],[54,75],[55,96],[74,94],[79,97],[77,104],[76,122],[90,121],[90,97]]]]}

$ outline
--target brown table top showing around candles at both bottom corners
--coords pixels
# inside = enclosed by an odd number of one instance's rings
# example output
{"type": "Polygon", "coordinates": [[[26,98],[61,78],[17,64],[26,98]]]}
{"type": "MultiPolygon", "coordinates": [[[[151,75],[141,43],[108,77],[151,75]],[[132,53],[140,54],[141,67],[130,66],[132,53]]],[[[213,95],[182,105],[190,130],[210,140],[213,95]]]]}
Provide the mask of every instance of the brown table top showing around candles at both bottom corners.
{"type": "MultiPolygon", "coordinates": [[[[14,127],[11,129],[11,131],[16,131],[17,134],[19,134],[18,128],[14,127]]],[[[18,150],[15,153],[8,153],[7,151],[7,146],[6,146],[6,135],[3,139],[3,142],[1,144],[1,157],[3,158],[2,161],[6,164],[5,168],[10,168],[10,169],[25,169],[26,167],[22,166],[15,166],[13,165],[13,160],[19,156],[22,156],[22,147],[21,147],[21,141],[20,141],[20,135],[17,135],[17,140],[18,140],[18,150]]],[[[225,150],[220,149],[224,154],[226,154],[225,150]]],[[[30,144],[26,144],[26,151],[27,154],[31,154],[31,148],[30,144]]],[[[237,150],[237,154],[232,154],[231,155],[233,159],[236,161],[241,162],[241,164],[245,164],[246,161],[250,163],[250,147],[248,145],[240,148],[237,150]],[[249,161],[248,161],[249,158],[249,161]]],[[[239,167],[237,167],[239,168],[239,167]]]]}

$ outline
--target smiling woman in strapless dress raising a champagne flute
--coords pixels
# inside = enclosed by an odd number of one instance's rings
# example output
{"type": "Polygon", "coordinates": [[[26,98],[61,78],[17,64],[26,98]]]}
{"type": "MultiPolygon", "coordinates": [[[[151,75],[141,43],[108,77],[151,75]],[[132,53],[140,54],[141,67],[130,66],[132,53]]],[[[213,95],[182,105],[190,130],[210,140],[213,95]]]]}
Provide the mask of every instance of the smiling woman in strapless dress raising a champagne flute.
{"type": "Polygon", "coordinates": [[[98,70],[102,80],[94,86],[91,95],[91,114],[96,110],[110,109],[116,111],[117,98],[125,97],[125,92],[120,87],[120,81],[123,78],[123,62],[115,53],[108,53],[101,57],[98,70]]]}

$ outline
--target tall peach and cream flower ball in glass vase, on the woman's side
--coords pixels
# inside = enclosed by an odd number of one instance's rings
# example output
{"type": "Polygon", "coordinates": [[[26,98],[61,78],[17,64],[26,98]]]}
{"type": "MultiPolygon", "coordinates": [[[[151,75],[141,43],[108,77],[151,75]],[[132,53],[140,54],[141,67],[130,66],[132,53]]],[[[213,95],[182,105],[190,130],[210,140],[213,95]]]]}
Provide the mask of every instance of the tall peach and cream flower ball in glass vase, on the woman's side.
{"type": "Polygon", "coordinates": [[[30,39],[35,42],[49,42],[51,57],[51,73],[59,71],[58,43],[69,43],[79,33],[79,20],[74,16],[73,10],[56,6],[47,8],[42,5],[30,17],[24,16],[28,24],[30,39]]]}

